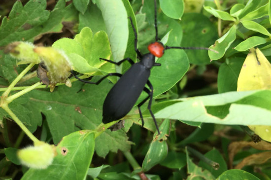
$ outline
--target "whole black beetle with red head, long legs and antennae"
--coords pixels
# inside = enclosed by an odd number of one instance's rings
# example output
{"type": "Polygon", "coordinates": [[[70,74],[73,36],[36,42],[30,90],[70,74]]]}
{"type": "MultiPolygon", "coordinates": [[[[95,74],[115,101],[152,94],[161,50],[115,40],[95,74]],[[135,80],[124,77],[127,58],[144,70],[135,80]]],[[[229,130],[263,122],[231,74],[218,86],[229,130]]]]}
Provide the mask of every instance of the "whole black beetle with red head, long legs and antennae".
{"type": "Polygon", "coordinates": [[[74,72],[73,75],[78,80],[90,83],[90,84],[100,84],[103,79],[105,79],[108,76],[119,76],[120,79],[117,81],[117,83],[112,87],[112,89],[107,94],[102,108],[102,122],[103,123],[109,123],[111,121],[115,121],[118,119],[121,119],[124,117],[128,112],[134,107],[135,102],[139,98],[142,91],[145,91],[148,94],[148,97],[146,97],[143,101],[141,101],[137,107],[139,110],[139,115],[141,117],[142,126],[144,125],[143,116],[140,110],[140,106],[142,106],[148,99],[150,99],[148,104],[148,110],[154,120],[156,129],[158,131],[158,134],[160,134],[157,122],[155,120],[155,117],[153,115],[153,112],[151,111],[151,104],[152,104],[152,97],[153,97],[153,86],[151,82],[148,80],[150,76],[150,69],[153,66],[161,66],[159,63],[155,63],[155,57],[162,57],[164,54],[164,51],[167,49],[205,49],[205,50],[211,50],[208,48],[201,48],[201,47],[169,47],[164,46],[162,42],[159,42],[158,38],[158,32],[157,32],[157,10],[156,10],[156,0],[154,0],[154,25],[155,25],[155,42],[149,44],[148,50],[150,51],[147,54],[141,55],[140,51],[137,49],[137,33],[135,31],[135,26],[133,24],[132,18],[129,17],[131,21],[131,25],[134,30],[135,34],[135,52],[137,54],[137,59],[140,60],[138,63],[134,63],[132,59],[125,58],[118,63],[100,58],[100,60],[107,61],[109,63],[113,63],[115,65],[121,65],[123,62],[128,61],[132,66],[131,68],[125,72],[124,74],[120,73],[108,73],[104,77],[102,77],[97,82],[90,82],[83,79],[78,78],[74,72]],[[149,89],[145,87],[145,84],[148,85],[149,89]]]}

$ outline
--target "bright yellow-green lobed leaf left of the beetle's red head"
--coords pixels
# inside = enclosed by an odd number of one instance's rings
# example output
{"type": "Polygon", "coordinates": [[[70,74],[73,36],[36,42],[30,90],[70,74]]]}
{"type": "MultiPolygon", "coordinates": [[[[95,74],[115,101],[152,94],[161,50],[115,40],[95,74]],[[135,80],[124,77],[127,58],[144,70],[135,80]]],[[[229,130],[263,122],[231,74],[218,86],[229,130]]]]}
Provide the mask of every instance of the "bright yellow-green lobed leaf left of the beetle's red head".
{"type": "Polygon", "coordinates": [[[100,61],[100,58],[110,59],[111,54],[106,33],[100,31],[93,36],[91,29],[87,27],[83,28],[74,39],[59,39],[52,47],[65,51],[73,70],[87,74],[100,72],[99,68],[106,63],[100,61]]]}

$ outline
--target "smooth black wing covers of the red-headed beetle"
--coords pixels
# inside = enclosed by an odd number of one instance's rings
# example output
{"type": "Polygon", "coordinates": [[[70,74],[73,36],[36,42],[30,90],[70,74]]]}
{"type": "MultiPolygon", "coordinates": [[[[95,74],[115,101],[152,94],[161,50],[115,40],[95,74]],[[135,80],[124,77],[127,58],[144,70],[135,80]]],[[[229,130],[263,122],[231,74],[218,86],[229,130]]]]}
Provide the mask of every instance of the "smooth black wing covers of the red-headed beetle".
{"type": "Polygon", "coordinates": [[[140,63],[134,64],[125,72],[104,100],[102,122],[118,120],[128,114],[143,91],[149,76],[150,71],[140,63]]]}

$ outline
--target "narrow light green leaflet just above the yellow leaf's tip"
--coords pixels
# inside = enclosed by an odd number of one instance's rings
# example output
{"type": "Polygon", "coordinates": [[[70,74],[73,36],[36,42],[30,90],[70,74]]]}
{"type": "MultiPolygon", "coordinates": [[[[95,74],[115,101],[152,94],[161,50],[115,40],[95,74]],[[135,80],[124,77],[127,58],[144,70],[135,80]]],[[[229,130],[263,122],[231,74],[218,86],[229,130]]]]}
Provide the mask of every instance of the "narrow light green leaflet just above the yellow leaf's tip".
{"type": "Polygon", "coordinates": [[[236,47],[234,47],[234,49],[237,51],[246,51],[252,47],[264,44],[266,42],[267,42],[266,39],[263,37],[252,36],[240,42],[236,47]]]}

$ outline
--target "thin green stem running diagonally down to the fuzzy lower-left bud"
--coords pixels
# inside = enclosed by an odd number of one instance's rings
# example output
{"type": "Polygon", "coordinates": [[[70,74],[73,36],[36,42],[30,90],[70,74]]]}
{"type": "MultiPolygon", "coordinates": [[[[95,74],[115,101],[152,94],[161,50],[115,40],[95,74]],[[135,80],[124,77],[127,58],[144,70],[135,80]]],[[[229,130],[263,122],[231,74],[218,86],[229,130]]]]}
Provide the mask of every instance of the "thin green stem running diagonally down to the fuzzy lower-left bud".
{"type": "Polygon", "coordinates": [[[27,129],[27,127],[18,119],[18,117],[8,108],[7,104],[2,104],[2,108],[11,116],[11,118],[20,126],[20,128],[26,133],[26,135],[35,143],[39,143],[39,140],[27,129]]]}

